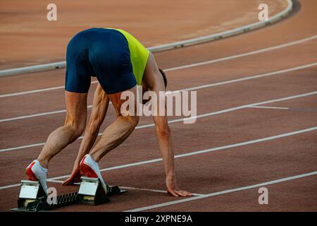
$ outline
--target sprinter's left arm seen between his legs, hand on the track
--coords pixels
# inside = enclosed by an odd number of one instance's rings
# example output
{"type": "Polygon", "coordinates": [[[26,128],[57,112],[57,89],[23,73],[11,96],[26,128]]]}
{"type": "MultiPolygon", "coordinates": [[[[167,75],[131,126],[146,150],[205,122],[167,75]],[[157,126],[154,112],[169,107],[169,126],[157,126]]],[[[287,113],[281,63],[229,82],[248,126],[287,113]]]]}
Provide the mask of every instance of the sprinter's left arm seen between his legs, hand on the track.
{"type": "Polygon", "coordinates": [[[85,129],[85,136],[82,139],[80,144],[80,149],[78,151],[76,160],[74,162],[73,172],[71,176],[63,182],[63,184],[73,184],[78,182],[80,179],[80,160],[84,157],[89,150],[94,145],[94,142],[97,139],[100,126],[106,117],[106,112],[108,109],[109,99],[108,95],[101,88],[101,85],[98,84],[96,91],[94,92],[94,100],[92,102],[92,113],[90,114],[89,122],[85,129]]]}

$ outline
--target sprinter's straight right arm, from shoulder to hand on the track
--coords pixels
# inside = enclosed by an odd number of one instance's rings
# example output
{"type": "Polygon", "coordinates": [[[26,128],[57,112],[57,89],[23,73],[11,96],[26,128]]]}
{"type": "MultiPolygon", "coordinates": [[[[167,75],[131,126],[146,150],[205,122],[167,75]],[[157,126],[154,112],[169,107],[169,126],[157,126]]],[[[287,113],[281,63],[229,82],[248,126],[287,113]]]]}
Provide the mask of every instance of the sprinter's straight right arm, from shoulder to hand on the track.
{"type": "MultiPolygon", "coordinates": [[[[156,96],[159,97],[159,92],[165,92],[164,81],[161,76],[161,73],[156,65],[156,61],[154,56],[150,54],[149,60],[147,63],[147,67],[144,72],[145,81],[147,83],[147,87],[149,90],[154,91],[156,96]]],[[[156,105],[152,103],[152,109],[154,112],[159,113],[159,98],[156,105]]],[[[166,113],[166,100],[164,99],[163,102],[165,103],[164,112],[166,113]]],[[[161,111],[162,112],[162,111],[161,111]]],[[[166,172],[166,188],[168,193],[172,194],[175,197],[178,196],[192,196],[188,191],[183,191],[178,189],[176,184],[176,175],[175,175],[175,167],[174,167],[174,148],[173,148],[173,141],[172,141],[172,134],[170,131],[170,127],[168,126],[168,119],[166,114],[159,115],[153,117],[154,124],[156,126],[156,134],[159,140],[159,147],[161,150],[161,155],[163,158],[163,163],[166,172]]]]}

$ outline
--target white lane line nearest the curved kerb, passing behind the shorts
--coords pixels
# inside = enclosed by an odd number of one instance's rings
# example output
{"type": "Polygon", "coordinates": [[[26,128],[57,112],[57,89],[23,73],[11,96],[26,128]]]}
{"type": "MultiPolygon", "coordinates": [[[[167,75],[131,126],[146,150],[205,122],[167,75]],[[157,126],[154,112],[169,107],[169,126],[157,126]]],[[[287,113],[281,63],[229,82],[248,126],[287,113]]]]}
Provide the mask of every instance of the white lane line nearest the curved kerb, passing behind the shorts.
{"type": "MultiPolygon", "coordinates": [[[[210,61],[203,61],[203,62],[199,62],[199,63],[195,63],[195,64],[188,64],[188,65],[184,65],[184,66],[178,66],[178,67],[174,67],[174,68],[170,68],[170,69],[164,69],[164,71],[175,71],[175,70],[179,70],[179,69],[186,69],[186,68],[190,68],[190,67],[194,67],[194,66],[201,66],[201,65],[206,65],[206,64],[214,64],[220,61],[227,61],[230,59],[237,59],[240,57],[247,57],[247,56],[251,56],[254,54],[259,54],[262,52],[269,52],[275,49],[281,49],[281,48],[285,48],[285,47],[290,47],[294,44],[301,44],[303,42],[308,42],[311,40],[314,40],[317,38],[317,35],[313,35],[310,37],[306,37],[302,40],[296,40],[294,42],[287,42],[285,44],[279,44],[273,47],[268,47],[268,48],[264,48],[264,49],[259,49],[256,51],[252,51],[252,52],[246,52],[243,54],[237,54],[237,55],[232,55],[230,57],[223,57],[220,59],[213,59],[210,61]]],[[[93,81],[92,83],[97,83],[97,81],[93,81]]],[[[18,92],[18,93],[8,93],[8,94],[4,94],[4,95],[0,95],[0,97],[13,97],[13,96],[17,96],[17,95],[27,95],[27,94],[31,94],[31,93],[39,93],[39,92],[44,92],[44,91],[49,91],[49,90],[57,90],[57,89],[63,89],[64,85],[61,86],[56,86],[56,87],[51,87],[51,88],[42,88],[42,89],[38,89],[38,90],[30,90],[30,91],[24,91],[24,92],[18,92]]]]}

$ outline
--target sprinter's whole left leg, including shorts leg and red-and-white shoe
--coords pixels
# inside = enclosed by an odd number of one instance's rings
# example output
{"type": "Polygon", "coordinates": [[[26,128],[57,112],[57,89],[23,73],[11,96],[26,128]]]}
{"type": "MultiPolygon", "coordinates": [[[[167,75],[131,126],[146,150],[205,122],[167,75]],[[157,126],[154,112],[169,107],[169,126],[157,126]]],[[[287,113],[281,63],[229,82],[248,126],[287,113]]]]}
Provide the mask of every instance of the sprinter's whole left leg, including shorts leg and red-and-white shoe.
{"type": "Polygon", "coordinates": [[[53,131],[44,145],[37,160],[25,169],[31,180],[39,181],[47,193],[47,172],[49,161],[84,131],[87,117],[87,93],[92,70],[89,65],[85,43],[89,41],[80,32],[70,40],[66,53],[66,120],[65,124],[53,131]]]}

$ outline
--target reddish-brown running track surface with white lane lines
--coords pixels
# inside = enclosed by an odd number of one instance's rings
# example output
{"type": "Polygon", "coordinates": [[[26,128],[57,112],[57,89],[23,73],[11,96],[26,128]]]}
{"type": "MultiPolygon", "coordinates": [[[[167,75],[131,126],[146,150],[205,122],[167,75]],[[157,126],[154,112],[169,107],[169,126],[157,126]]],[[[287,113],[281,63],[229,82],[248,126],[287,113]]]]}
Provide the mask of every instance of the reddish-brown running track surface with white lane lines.
{"type": "MultiPolygon", "coordinates": [[[[105,13],[106,3],[100,6],[104,1],[77,2],[73,6],[56,0],[59,18],[49,23],[42,19],[46,6],[39,1],[23,7],[1,1],[0,69],[63,60],[70,37],[89,27],[123,28],[149,47],[254,23],[262,2],[270,16],[286,7],[284,0],[137,0],[130,7],[116,1],[105,13]]],[[[197,91],[196,123],[169,119],[178,185],[194,196],[166,194],[153,121],[142,117],[127,141],[100,162],[106,182],[128,193],[101,206],[58,211],[316,211],[316,21],[317,1],[294,1],[294,11],[273,25],[156,53],[159,66],[166,69],[168,90],[197,91]],[[268,205],[258,202],[260,187],[268,189],[268,205]]],[[[0,78],[2,211],[15,207],[26,165],[49,133],[63,124],[64,74],[58,69],[0,78]]],[[[96,86],[94,82],[89,90],[89,105],[96,86]]],[[[114,119],[109,107],[101,131],[114,119]]],[[[59,194],[78,189],[61,182],[73,168],[80,141],[49,166],[49,179],[54,179],[49,186],[59,194]]]]}

